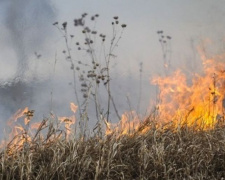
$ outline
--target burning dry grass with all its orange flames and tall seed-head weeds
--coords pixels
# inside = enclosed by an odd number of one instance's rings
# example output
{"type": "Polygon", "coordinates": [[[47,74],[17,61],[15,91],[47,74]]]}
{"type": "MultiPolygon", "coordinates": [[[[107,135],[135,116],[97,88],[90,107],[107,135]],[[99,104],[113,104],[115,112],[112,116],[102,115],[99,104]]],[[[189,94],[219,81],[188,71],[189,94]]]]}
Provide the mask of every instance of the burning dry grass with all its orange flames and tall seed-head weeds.
{"type": "MultiPolygon", "coordinates": [[[[207,59],[202,55],[204,70],[202,74],[192,75],[192,80],[187,80],[179,70],[166,77],[154,78],[152,82],[160,92],[154,113],[143,121],[134,111],[120,117],[110,91],[109,65],[126,25],[121,25],[123,29],[117,36],[119,22],[118,17],[114,17],[109,54],[104,56],[105,65],[102,66],[101,59],[96,59],[92,40],[97,32],[84,26],[86,16],[85,13],[75,19],[74,25],[83,27],[87,46],[82,48],[77,42],[78,50],[89,53],[91,58],[87,78],[84,71],[80,71],[81,65],[85,64],[81,61],[75,64],[73,59],[68,39],[74,36],[68,35],[67,23],[62,24],[63,28],[58,22],[54,23],[65,38],[67,52],[64,50],[63,53],[73,71],[77,105],[70,104],[72,115],[57,117],[51,114],[48,119],[33,123],[33,110],[18,110],[8,122],[12,128],[10,141],[2,143],[0,178],[224,179],[225,64],[221,61],[224,56],[207,59]],[[78,77],[84,98],[82,103],[76,89],[78,77]],[[106,104],[100,104],[100,86],[106,89],[106,104]],[[91,135],[86,129],[89,100],[95,103],[97,118],[91,135]],[[111,105],[120,119],[118,124],[110,123],[111,105]],[[22,117],[24,125],[16,124],[22,117]]],[[[92,16],[91,20],[97,17],[92,16]]],[[[162,34],[162,31],[158,33],[162,34]]],[[[100,34],[102,47],[105,37],[100,34]]],[[[170,39],[167,36],[167,40],[170,39]]],[[[166,43],[162,39],[160,42],[166,43]]],[[[165,52],[163,54],[166,58],[165,52]]],[[[168,69],[170,62],[164,60],[168,69]]]]}

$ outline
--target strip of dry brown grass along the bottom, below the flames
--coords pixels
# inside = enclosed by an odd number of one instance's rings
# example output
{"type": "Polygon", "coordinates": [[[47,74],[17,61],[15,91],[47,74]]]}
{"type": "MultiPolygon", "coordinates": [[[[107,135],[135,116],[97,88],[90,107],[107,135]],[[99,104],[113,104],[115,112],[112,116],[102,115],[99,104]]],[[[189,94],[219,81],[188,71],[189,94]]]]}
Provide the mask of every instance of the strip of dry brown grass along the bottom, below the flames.
{"type": "Polygon", "coordinates": [[[1,151],[1,179],[223,179],[225,129],[151,128],[66,140],[49,125],[1,151]]]}

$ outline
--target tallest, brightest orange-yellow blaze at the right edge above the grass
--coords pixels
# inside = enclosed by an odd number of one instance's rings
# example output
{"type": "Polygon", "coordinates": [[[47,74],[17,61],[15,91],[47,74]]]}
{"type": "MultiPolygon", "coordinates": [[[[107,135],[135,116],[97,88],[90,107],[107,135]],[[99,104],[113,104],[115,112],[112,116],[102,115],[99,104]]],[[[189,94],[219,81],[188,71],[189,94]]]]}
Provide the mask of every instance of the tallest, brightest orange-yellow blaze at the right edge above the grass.
{"type": "Polygon", "coordinates": [[[152,80],[160,91],[158,121],[205,130],[223,121],[225,63],[202,56],[202,64],[203,75],[194,74],[190,82],[180,70],[152,80]]]}

